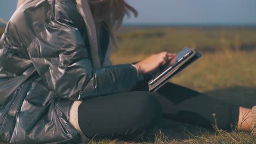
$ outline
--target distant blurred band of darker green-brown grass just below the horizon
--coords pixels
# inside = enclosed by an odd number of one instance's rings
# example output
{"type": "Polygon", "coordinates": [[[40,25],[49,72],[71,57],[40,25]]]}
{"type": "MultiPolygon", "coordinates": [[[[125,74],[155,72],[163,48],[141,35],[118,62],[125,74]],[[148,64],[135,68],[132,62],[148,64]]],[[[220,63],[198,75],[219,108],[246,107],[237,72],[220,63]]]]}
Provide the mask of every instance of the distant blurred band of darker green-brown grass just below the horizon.
{"type": "Polygon", "coordinates": [[[118,53],[122,55],[178,51],[184,46],[196,47],[201,52],[250,51],[256,49],[256,28],[135,28],[121,31],[118,39],[118,53]]]}

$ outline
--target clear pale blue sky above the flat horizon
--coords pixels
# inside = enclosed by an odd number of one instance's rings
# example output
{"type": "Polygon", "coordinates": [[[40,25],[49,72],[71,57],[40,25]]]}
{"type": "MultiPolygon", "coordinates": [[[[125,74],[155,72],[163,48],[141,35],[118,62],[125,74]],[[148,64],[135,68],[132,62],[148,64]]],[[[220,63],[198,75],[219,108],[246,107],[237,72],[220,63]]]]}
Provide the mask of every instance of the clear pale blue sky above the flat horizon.
{"type": "MultiPolygon", "coordinates": [[[[0,17],[9,20],[17,0],[1,0],[0,17]]],[[[246,24],[256,26],[256,0],[127,0],[139,16],[124,23],[246,24]]]]}

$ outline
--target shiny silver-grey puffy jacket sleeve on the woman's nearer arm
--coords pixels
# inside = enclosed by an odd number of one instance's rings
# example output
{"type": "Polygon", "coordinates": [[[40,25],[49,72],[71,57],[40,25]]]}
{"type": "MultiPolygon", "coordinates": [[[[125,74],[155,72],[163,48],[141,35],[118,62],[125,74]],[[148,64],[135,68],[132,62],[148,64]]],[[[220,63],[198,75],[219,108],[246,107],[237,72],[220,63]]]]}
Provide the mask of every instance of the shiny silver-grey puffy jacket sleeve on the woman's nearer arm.
{"type": "Polygon", "coordinates": [[[36,35],[28,53],[38,74],[57,95],[79,100],[131,89],[138,81],[131,64],[93,69],[88,47],[72,22],[53,20],[36,35]]]}

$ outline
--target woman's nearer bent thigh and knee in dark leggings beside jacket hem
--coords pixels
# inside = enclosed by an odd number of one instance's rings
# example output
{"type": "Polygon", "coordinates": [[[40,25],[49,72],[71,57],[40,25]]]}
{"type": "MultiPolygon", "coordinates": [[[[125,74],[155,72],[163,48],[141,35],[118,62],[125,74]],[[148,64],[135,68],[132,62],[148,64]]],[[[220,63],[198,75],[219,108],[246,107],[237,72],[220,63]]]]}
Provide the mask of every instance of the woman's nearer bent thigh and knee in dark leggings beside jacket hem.
{"type": "Polygon", "coordinates": [[[80,129],[90,139],[132,139],[153,128],[160,118],[160,105],[148,92],[91,98],[78,108],[80,129]]]}

